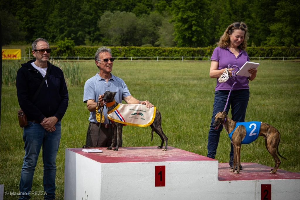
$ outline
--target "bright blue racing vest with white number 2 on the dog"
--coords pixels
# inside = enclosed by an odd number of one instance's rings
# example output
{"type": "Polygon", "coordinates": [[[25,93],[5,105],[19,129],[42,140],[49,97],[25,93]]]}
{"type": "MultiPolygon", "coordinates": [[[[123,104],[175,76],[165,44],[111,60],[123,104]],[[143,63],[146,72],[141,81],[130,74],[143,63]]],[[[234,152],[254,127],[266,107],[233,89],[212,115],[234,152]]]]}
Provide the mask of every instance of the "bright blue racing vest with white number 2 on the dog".
{"type": "Polygon", "coordinates": [[[230,140],[232,141],[232,134],[238,126],[244,126],[246,128],[246,136],[241,142],[241,144],[250,144],[258,138],[260,130],[260,121],[250,121],[250,122],[237,122],[233,131],[228,134],[230,140]]]}

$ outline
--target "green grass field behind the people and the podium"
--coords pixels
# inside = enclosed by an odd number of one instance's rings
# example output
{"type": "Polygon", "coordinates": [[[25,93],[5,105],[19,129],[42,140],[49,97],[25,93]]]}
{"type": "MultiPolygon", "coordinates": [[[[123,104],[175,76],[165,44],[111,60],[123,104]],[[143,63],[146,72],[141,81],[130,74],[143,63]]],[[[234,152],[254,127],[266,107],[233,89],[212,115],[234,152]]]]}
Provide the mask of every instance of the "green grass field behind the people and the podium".
{"type": "MultiPolygon", "coordinates": [[[[98,68],[94,61],[76,62],[82,74],[79,85],[68,87],[69,107],[62,120],[62,137],[57,156],[57,199],[64,199],[64,156],[66,148],[85,144],[89,112],[82,103],[85,80],[94,76],[98,68]]],[[[250,101],[246,121],[263,121],[276,127],[281,134],[280,169],[300,172],[300,62],[261,61],[258,74],[250,82],[250,101]]],[[[8,62],[3,63],[3,71],[8,62]]],[[[139,100],[149,100],[162,113],[162,127],[169,138],[169,146],[207,154],[208,130],[214,102],[216,80],[209,78],[210,62],[149,61],[125,62],[116,60],[113,74],[121,77],[139,100]]],[[[7,70],[7,69],[6,69],[7,70]]],[[[4,76],[4,75],[3,75],[4,76]]],[[[15,77],[15,74],[13,74],[15,77]]],[[[19,105],[15,86],[2,86],[0,146],[0,184],[4,191],[18,192],[24,156],[22,129],[17,122],[19,105]]],[[[126,126],[123,146],[158,146],[155,134],[151,142],[151,128],[126,126]]],[[[216,159],[228,163],[230,141],[222,131],[216,159]]],[[[274,160],[259,137],[243,145],[241,162],[253,162],[271,167],[274,160]]],[[[35,170],[32,191],[43,191],[43,163],[41,155],[35,170]]],[[[4,199],[17,199],[4,196],[4,199]]],[[[34,199],[42,199],[35,196],[34,199]]]]}

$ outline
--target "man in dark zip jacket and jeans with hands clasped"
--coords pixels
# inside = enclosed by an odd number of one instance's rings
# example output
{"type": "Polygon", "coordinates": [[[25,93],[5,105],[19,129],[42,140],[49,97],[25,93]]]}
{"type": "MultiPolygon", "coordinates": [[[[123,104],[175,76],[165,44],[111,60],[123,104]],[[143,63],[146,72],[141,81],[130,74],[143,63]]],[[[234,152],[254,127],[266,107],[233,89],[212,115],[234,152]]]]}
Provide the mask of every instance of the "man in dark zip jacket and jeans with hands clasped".
{"type": "Polygon", "coordinates": [[[25,156],[21,171],[20,199],[29,199],[38,155],[43,146],[44,197],[55,199],[56,155],[61,138],[61,119],[68,106],[68,91],[61,69],[49,63],[49,43],[38,38],[32,43],[35,60],[22,64],[16,76],[17,96],[27,115],[24,127],[25,156]],[[46,73],[49,75],[36,94],[46,73]]]}

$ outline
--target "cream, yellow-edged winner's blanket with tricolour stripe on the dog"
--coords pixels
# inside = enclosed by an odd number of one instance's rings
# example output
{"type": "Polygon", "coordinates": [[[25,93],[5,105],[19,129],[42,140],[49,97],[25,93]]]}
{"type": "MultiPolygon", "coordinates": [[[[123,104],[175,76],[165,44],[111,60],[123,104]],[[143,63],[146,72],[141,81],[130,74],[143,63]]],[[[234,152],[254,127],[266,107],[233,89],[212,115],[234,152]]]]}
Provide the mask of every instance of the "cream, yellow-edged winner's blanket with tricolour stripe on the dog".
{"type": "Polygon", "coordinates": [[[142,104],[119,103],[113,110],[107,112],[111,121],[137,127],[150,126],[155,118],[156,107],[147,108],[142,104]]]}

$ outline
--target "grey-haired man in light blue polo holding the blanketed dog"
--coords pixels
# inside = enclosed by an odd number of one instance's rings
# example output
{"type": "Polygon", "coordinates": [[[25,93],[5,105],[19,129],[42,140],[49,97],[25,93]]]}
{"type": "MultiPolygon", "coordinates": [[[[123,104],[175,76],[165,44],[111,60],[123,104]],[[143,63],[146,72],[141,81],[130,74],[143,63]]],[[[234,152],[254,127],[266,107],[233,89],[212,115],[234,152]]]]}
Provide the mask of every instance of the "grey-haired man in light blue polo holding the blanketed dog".
{"type": "Polygon", "coordinates": [[[86,146],[109,147],[112,143],[113,133],[112,129],[109,128],[105,106],[103,109],[104,122],[98,122],[96,119],[96,108],[98,106],[98,109],[100,109],[103,106],[102,95],[105,91],[117,92],[115,100],[118,103],[122,103],[122,100],[124,100],[127,104],[146,104],[148,108],[153,106],[147,100],[140,101],[131,96],[125,82],[111,73],[113,61],[111,49],[99,48],[95,53],[95,64],[99,68],[99,73],[88,79],[84,85],[83,102],[86,103],[90,111],[86,146]]]}

